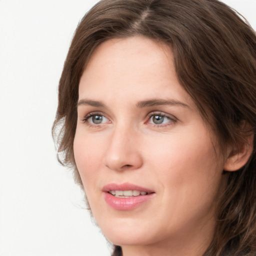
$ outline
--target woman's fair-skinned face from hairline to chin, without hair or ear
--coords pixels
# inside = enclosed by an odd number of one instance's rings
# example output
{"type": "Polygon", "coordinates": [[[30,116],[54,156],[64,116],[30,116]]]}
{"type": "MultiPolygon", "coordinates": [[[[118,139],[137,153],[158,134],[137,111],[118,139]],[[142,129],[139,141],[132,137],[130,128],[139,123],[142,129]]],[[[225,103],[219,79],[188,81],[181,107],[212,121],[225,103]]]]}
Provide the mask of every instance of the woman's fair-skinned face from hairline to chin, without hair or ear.
{"type": "Polygon", "coordinates": [[[166,45],[142,36],[102,43],[81,76],[77,112],[75,161],[111,242],[212,238],[225,159],[166,45]]]}

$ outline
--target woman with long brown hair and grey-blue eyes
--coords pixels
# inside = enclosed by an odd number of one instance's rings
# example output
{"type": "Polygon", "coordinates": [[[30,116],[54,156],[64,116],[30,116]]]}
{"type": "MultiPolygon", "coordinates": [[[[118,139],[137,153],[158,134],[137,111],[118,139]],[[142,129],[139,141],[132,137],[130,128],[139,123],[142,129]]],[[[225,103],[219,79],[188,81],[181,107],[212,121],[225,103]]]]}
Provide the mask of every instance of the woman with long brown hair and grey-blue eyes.
{"type": "Polygon", "coordinates": [[[61,162],[113,255],[256,254],[256,36],[233,10],[100,1],[58,100],[61,162]]]}

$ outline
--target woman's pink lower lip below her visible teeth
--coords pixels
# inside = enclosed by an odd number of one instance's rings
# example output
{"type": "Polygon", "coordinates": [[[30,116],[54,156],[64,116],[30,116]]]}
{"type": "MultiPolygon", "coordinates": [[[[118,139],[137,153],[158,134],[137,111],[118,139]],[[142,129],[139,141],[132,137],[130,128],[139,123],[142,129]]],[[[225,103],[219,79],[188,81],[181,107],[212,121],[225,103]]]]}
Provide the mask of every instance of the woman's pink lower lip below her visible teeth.
{"type": "Polygon", "coordinates": [[[106,203],[116,210],[132,210],[142,203],[150,200],[155,193],[131,196],[131,197],[115,197],[108,192],[104,192],[106,203]]]}

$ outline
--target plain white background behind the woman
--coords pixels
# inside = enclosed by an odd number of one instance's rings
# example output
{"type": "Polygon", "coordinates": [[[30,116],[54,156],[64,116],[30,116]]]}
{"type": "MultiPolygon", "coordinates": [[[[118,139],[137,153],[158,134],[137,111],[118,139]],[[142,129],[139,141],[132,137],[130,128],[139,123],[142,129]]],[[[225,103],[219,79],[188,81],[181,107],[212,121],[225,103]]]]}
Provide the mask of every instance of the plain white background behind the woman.
{"type": "MultiPolygon", "coordinates": [[[[107,256],[51,125],[73,31],[97,0],[0,0],[0,256],[107,256]]],[[[256,29],[256,0],[224,0],[256,29]]]]}

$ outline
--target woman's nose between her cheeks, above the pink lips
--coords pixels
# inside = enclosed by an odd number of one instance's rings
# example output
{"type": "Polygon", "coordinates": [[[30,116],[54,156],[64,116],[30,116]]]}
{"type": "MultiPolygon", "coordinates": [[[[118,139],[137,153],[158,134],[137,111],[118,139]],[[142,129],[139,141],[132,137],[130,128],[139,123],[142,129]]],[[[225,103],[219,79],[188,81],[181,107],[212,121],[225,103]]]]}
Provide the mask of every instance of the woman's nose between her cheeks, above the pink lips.
{"type": "Polygon", "coordinates": [[[103,163],[115,171],[133,170],[142,166],[139,135],[131,128],[115,128],[110,135],[103,163]]]}

